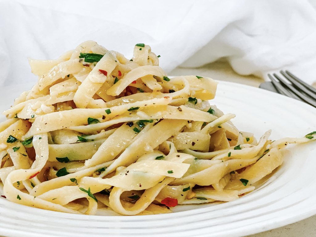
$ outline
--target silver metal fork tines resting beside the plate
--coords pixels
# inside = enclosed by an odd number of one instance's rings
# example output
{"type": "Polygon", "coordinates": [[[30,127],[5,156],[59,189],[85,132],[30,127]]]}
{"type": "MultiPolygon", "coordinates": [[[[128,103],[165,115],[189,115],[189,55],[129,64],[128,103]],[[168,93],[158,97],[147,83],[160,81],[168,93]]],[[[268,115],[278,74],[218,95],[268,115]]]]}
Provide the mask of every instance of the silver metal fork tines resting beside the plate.
{"type": "Polygon", "coordinates": [[[274,73],[273,76],[268,74],[272,85],[279,94],[301,100],[316,107],[316,88],[313,88],[306,82],[303,82],[287,70],[280,71],[280,73],[287,81],[278,76],[276,73],[274,73]]]}

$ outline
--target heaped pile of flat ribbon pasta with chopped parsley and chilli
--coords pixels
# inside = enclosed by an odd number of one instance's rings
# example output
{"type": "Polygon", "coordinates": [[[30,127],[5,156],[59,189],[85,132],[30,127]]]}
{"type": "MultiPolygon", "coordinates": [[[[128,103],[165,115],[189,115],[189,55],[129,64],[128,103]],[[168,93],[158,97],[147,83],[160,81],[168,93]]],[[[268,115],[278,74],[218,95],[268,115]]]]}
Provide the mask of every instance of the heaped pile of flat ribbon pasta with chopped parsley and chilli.
{"type": "Polygon", "coordinates": [[[303,138],[257,142],[211,106],[217,82],[169,78],[148,45],[132,59],[87,41],[57,60],[29,60],[39,76],[0,124],[3,196],[36,208],[94,215],[171,212],[228,202],[255,189],[303,138]]]}

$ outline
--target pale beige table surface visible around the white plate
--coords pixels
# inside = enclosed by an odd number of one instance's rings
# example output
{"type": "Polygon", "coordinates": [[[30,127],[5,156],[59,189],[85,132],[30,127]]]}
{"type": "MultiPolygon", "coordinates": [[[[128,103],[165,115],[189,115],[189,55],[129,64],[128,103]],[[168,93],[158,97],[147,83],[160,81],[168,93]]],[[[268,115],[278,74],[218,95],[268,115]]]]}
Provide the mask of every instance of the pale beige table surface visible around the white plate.
{"type": "MultiPolygon", "coordinates": [[[[177,67],[169,73],[172,76],[198,75],[208,76],[215,80],[236,82],[253,87],[258,87],[263,79],[256,76],[241,76],[234,72],[227,62],[219,61],[207,64],[200,68],[177,67]]],[[[247,237],[311,237],[316,236],[316,215],[305,220],[286,225],[259,234],[248,235],[247,237]]]]}

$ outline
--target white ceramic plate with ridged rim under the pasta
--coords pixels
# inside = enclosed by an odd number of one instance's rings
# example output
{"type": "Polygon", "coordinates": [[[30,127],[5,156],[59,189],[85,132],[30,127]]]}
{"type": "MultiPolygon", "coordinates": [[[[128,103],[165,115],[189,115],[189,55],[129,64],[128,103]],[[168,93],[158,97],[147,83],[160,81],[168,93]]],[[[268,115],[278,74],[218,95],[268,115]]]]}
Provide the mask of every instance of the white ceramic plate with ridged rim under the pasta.
{"type": "MultiPolygon", "coordinates": [[[[19,86],[1,88],[0,110],[8,108],[19,86]],[[4,98],[6,98],[4,100],[4,98]]],[[[302,137],[316,130],[316,109],[300,101],[245,85],[220,82],[216,99],[234,124],[259,138],[302,137]]],[[[0,198],[0,234],[5,236],[216,236],[258,233],[316,214],[316,143],[283,150],[285,161],[270,179],[233,202],[175,208],[152,216],[85,216],[40,210],[0,198]]]]}

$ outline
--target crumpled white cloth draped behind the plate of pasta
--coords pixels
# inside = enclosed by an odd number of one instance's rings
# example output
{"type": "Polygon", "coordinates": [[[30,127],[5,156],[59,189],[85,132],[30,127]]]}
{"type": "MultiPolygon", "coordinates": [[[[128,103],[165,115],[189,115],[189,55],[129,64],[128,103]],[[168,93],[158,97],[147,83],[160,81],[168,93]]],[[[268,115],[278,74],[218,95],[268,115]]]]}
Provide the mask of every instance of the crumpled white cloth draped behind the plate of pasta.
{"type": "Polygon", "coordinates": [[[316,80],[316,11],[306,0],[0,0],[0,85],[35,81],[27,57],[57,58],[85,40],[131,57],[136,43],[160,65],[226,57],[243,75],[289,69],[316,80]]]}

